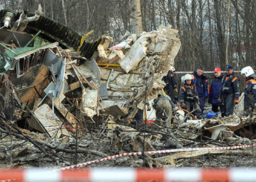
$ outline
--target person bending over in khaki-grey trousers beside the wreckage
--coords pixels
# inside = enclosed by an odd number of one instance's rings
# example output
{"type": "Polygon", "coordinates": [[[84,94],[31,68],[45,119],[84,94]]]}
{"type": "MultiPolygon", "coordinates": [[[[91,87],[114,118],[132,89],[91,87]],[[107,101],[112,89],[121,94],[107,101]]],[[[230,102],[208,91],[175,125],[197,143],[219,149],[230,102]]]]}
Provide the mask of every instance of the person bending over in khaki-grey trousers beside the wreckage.
{"type": "MultiPolygon", "coordinates": [[[[155,124],[160,124],[160,122],[164,122],[164,124],[168,124],[168,128],[171,127],[171,117],[172,117],[172,107],[173,104],[168,95],[163,94],[162,91],[157,92],[157,99],[154,100],[153,107],[156,110],[156,121],[155,124]]],[[[166,125],[165,125],[166,126],[166,125]]]]}

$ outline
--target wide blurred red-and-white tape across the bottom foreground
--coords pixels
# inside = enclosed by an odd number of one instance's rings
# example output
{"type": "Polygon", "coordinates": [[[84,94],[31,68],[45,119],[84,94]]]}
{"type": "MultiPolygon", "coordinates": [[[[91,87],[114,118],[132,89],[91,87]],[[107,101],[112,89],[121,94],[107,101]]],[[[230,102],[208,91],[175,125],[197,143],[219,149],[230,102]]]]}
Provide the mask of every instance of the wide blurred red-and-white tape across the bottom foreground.
{"type": "Polygon", "coordinates": [[[176,182],[176,181],[247,181],[256,179],[256,168],[95,168],[92,170],[49,171],[38,168],[1,170],[0,179],[15,178],[26,182],[176,182]]]}

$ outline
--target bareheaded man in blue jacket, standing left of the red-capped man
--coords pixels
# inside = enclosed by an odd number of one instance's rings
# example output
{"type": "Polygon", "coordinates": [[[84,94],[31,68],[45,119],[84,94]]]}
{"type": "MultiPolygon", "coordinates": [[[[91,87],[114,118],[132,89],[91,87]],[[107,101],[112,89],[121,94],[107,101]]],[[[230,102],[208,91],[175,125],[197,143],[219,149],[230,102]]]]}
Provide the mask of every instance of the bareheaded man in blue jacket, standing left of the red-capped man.
{"type": "Polygon", "coordinates": [[[208,78],[203,73],[203,67],[199,67],[196,71],[192,73],[193,83],[195,84],[197,89],[197,94],[199,96],[199,101],[201,104],[200,109],[202,112],[204,112],[205,99],[209,95],[208,78]]]}

